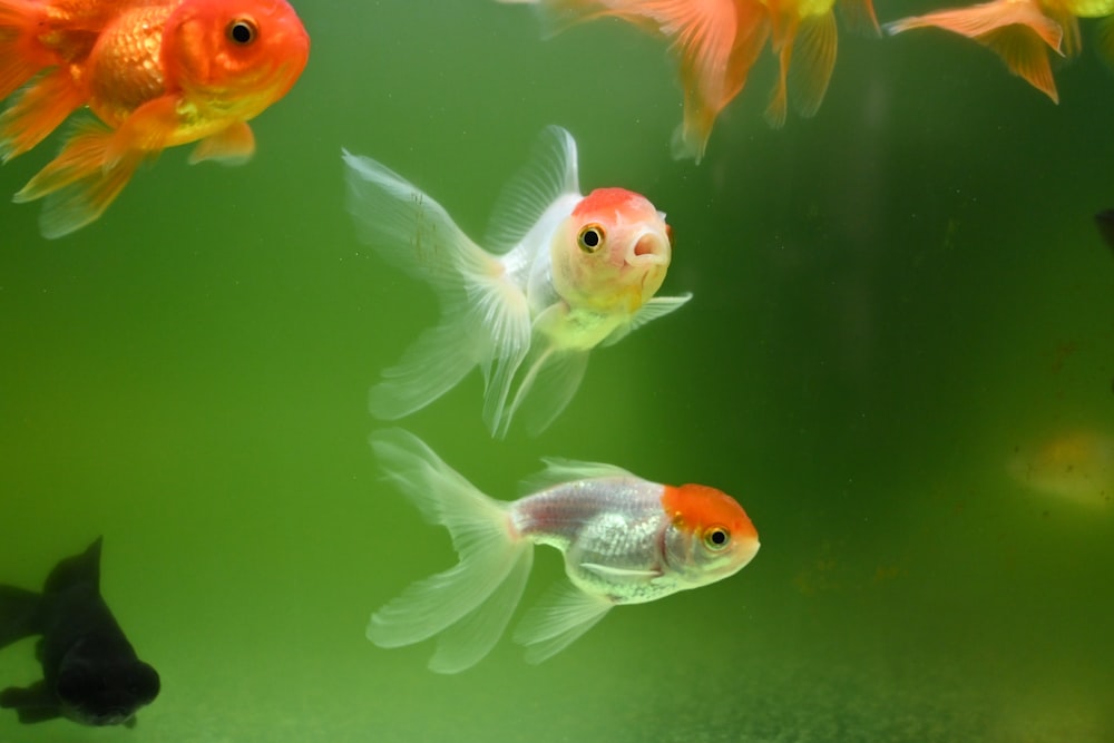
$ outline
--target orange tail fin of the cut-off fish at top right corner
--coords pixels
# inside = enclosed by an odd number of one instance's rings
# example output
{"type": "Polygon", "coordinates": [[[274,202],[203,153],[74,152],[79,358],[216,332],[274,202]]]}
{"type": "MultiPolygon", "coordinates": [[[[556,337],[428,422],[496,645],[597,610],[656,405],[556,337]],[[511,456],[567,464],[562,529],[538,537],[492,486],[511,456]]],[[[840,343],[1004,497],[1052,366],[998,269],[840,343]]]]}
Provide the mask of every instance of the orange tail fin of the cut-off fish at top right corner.
{"type": "Polygon", "coordinates": [[[1064,29],[1033,0],[994,0],[973,8],[941,10],[886,25],[889,33],[936,26],[975,39],[1001,57],[1014,75],[1059,101],[1047,50],[1063,53],[1064,29]]]}

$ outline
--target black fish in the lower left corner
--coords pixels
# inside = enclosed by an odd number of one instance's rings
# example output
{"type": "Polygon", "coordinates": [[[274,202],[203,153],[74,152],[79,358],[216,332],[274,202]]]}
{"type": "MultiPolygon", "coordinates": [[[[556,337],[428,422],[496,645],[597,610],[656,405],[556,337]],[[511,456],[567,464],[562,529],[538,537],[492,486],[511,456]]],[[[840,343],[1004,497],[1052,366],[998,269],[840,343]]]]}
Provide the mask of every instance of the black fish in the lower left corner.
{"type": "Polygon", "coordinates": [[[66,716],[85,725],[135,724],[158,695],[158,674],[136,657],[100,596],[100,538],[60,561],[42,594],[0,586],[0,647],[42,635],[42,681],[0,692],[22,723],[66,716]]]}

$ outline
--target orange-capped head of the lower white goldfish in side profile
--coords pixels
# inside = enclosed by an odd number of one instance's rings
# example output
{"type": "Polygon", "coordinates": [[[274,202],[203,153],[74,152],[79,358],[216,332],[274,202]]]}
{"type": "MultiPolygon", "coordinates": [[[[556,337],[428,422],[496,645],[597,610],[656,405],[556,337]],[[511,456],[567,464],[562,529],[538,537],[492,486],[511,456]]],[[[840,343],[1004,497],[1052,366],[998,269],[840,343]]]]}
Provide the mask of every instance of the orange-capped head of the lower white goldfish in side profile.
{"type": "Polygon", "coordinates": [[[665,563],[690,587],[734,575],[759,551],[759,532],[750,517],[722,490],[666,487],[662,505],[668,518],[665,563]]]}

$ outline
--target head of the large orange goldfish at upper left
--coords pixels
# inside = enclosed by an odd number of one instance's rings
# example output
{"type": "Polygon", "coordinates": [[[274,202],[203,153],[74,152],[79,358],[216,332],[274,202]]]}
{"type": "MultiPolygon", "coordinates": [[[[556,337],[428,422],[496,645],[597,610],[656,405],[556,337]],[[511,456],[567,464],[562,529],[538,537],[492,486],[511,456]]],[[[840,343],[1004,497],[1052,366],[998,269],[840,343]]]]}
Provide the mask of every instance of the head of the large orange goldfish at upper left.
{"type": "Polygon", "coordinates": [[[246,121],[286,95],[310,36],[285,0],[184,0],[167,19],[162,59],[197,116],[246,121]]]}

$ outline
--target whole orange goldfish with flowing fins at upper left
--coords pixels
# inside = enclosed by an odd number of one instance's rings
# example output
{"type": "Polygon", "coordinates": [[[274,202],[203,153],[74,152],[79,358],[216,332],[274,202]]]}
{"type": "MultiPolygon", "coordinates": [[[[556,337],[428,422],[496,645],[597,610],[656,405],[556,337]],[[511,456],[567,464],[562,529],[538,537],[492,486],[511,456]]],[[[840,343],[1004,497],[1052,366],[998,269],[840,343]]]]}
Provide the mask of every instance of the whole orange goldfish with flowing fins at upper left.
{"type": "Polygon", "coordinates": [[[45,198],[41,232],[60,237],[167,147],[196,141],[190,163],[247,160],[247,121],[286,95],[309,52],[284,0],[0,0],[0,100],[27,86],[0,115],[0,158],[80,108],[96,116],[14,201],[45,198]]]}

